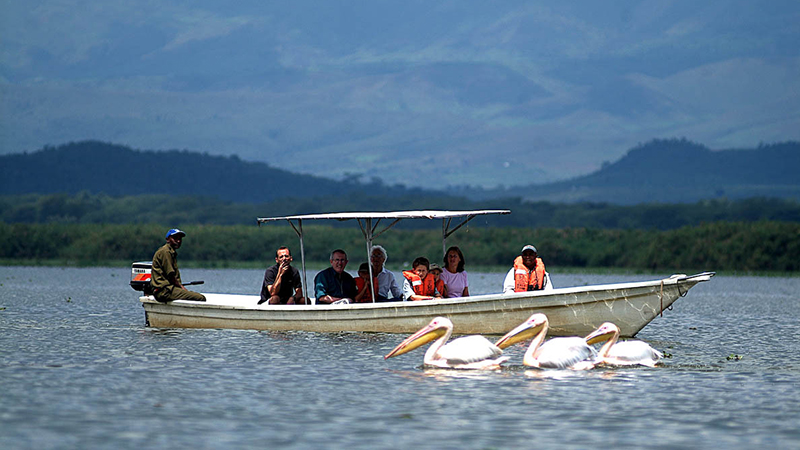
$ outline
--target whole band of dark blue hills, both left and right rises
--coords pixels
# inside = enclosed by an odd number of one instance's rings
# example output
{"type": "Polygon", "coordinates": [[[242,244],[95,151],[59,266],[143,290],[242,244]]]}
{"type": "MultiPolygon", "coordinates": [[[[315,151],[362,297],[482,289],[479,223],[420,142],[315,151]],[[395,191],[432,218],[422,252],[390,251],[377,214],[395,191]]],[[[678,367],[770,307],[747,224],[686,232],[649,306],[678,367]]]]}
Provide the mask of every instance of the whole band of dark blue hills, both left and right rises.
{"type": "MultiPolygon", "coordinates": [[[[800,143],[762,145],[751,150],[712,151],[686,139],[653,140],[592,174],[572,180],[482,190],[424,190],[385,185],[380,179],[345,181],[292,173],[236,156],[186,150],[142,151],[97,141],[46,147],[33,153],[0,156],[0,194],[201,195],[240,203],[282,198],[517,197],[553,203],[694,203],[713,198],[800,199],[800,143]]],[[[405,200],[403,200],[405,201],[405,200]]],[[[376,200],[375,203],[379,203],[376,200]]],[[[393,205],[397,203],[392,203],[393,205]]],[[[402,202],[400,202],[402,203],[402,202]]],[[[388,203],[387,203],[388,204],[388,203]]],[[[431,203],[433,204],[433,203],[431,203]]],[[[446,206],[445,206],[446,207],[446,206]]],[[[381,205],[373,207],[381,209],[381,205]]]]}

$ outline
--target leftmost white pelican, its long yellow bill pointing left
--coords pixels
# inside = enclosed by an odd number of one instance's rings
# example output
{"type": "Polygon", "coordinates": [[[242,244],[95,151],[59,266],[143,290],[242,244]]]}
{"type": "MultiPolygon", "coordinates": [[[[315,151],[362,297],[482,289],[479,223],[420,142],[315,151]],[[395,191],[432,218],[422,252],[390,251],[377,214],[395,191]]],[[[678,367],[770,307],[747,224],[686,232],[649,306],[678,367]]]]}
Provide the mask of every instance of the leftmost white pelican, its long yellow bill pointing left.
{"type": "Polygon", "coordinates": [[[436,317],[431,323],[412,334],[394,348],[384,359],[402,355],[436,340],[425,352],[426,366],[449,369],[499,369],[508,360],[503,351],[483,336],[464,336],[447,342],[453,334],[453,322],[436,317]]]}

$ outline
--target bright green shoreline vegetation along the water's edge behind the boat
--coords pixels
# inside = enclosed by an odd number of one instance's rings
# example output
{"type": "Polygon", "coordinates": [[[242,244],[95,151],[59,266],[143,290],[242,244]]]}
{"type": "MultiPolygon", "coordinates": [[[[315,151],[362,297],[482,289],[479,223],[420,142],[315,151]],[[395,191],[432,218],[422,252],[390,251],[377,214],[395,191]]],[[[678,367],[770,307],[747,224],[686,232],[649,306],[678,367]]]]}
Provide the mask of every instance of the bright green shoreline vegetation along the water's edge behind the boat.
{"type": "MultiPolygon", "coordinates": [[[[129,266],[148,261],[163,245],[169,226],[156,224],[9,224],[0,222],[0,265],[129,266]]],[[[183,267],[264,268],[275,250],[291,248],[299,264],[299,242],[288,225],[186,225],[180,249],[183,267]]],[[[350,265],[366,260],[357,226],[305,226],[310,270],[327,265],[329,253],[343,248],[350,265]]],[[[415,257],[440,262],[441,231],[393,229],[376,244],[398,270],[415,257]]],[[[447,241],[465,253],[468,270],[495,272],[509,267],[519,249],[532,243],[548,267],[561,271],[607,273],[796,274],[800,269],[800,223],[713,222],[673,230],[599,228],[499,228],[466,226],[447,241]]]]}

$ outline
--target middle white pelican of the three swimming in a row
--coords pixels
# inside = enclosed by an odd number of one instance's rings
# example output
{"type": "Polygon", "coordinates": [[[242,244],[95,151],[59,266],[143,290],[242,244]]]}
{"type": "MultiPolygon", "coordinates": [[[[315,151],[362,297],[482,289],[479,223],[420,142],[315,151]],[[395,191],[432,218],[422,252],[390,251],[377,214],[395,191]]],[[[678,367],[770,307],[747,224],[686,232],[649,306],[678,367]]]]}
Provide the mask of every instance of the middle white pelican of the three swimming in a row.
{"type": "Polygon", "coordinates": [[[534,314],[520,326],[506,333],[496,344],[500,348],[506,348],[533,337],[533,341],[522,359],[522,363],[526,366],[540,369],[573,370],[586,370],[594,367],[594,358],[597,356],[597,352],[586,343],[584,338],[577,336],[553,338],[542,344],[549,326],[547,316],[534,314]]]}

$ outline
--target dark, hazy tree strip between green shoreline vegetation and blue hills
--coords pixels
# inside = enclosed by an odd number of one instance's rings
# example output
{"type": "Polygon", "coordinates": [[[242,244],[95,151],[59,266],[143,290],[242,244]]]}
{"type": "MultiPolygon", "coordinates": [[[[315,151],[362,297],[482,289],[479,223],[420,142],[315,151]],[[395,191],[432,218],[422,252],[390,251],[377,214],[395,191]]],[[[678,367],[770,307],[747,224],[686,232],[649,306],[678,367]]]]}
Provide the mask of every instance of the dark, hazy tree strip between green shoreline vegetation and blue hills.
{"type": "MultiPolygon", "coordinates": [[[[750,198],[693,204],[526,202],[520,198],[471,201],[460,197],[379,197],[359,192],[329,197],[284,197],[266,203],[236,203],[212,197],[137,195],[114,197],[81,192],[0,196],[0,222],[75,224],[249,225],[256,217],[320,212],[412,209],[510,209],[505,216],[474,219],[493,227],[672,230],[709,222],[800,222],[800,202],[750,198]]],[[[345,225],[349,226],[349,225],[345,225]]],[[[435,221],[409,221],[401,228],[437,228],[435,221]]]]}

